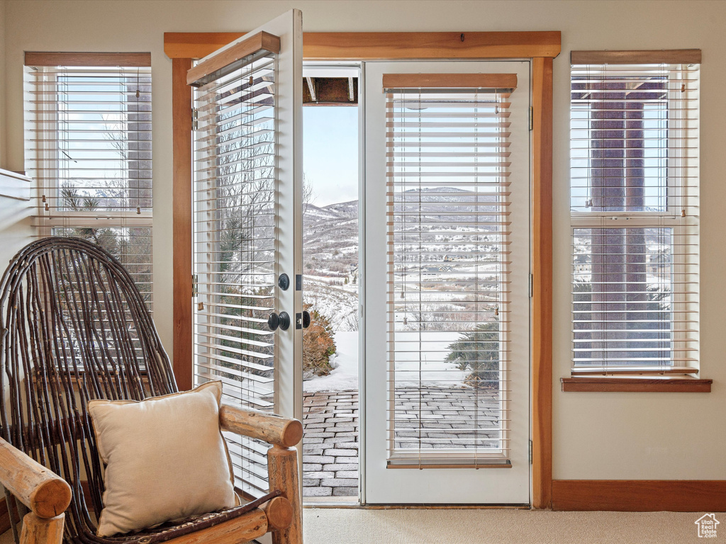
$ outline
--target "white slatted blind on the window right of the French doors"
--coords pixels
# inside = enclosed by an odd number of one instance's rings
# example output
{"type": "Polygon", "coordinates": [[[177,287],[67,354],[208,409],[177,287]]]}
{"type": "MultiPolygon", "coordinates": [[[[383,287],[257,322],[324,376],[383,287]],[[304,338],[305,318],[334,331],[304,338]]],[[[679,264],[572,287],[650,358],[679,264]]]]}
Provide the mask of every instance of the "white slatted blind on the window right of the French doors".
{"type": "Polygon", "coordinates": [[[696,372],[700,65],[582,57],[573,51],[574,374],[696,372]]]}

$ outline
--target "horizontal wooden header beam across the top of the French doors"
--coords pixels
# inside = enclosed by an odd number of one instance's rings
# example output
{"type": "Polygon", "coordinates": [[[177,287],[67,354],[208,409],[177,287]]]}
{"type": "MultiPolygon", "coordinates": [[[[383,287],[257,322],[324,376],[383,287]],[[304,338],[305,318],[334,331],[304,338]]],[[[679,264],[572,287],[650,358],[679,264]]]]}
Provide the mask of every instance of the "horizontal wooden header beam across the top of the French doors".
{"type": "MultiPolygon", "coordinates": [[[[166,32],[164,52],[201,59],[245,33],[166,32]]],[[[557,57],[561,33],[544,32],[306,32],[306,60],[505,59],[557,57]]]]}

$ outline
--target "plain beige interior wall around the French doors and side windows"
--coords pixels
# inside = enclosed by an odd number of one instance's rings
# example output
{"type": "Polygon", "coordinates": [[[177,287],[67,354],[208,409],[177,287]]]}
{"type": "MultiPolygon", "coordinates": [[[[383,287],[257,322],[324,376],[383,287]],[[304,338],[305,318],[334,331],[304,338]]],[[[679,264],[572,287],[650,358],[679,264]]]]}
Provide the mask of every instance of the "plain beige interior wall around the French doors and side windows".
{"type": "MultiPolygon", "coordinates": [[[[309,31],[561,30],[555,59],[554,475],[556,479],[726,479],[726,3],[723,1],[19,1],[7,0],[7,159],[23,168],[23,51],[151,51],[155,313],[171,347],[171,62],[164,31],[254,28],[290,7],[309,31]],[[703,49],[701,303],[710,394],[562,393],[570,360],[568,54],[703,49]]],[[[1,92],[1,91],[0,91],[1,92]]],[[[2,257],[0,255],[0,257],[2,257]]]]}

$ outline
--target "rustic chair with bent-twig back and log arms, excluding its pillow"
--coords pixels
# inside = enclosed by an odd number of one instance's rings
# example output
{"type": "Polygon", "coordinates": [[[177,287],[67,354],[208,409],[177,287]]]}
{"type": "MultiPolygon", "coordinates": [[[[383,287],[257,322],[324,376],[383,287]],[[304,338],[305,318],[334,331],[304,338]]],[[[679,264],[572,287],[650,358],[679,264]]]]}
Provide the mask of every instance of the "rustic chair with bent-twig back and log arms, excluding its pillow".
{"type": "Polygon", "coordinates": [[[16,542],[233,544],[270,530],[274,543],[301,543],[300,422],[227,405],[225,430],[273,445],[272,493],[177,524],[96,536],[90,511],[97,519],[103,508],[103,479],[86,403],[176,391],[142,295],[102,248],[52,236],[12,259],[0,280],[0,371],[0,483],[16,542]]]}

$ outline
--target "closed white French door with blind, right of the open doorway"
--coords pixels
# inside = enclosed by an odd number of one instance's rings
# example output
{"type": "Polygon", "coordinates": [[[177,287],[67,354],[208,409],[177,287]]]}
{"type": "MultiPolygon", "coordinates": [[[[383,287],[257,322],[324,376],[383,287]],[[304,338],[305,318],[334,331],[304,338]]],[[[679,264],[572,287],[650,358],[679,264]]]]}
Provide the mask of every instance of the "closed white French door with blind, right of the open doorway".
{"type": "Polygon", "coordinates": [[[529,503],[529,62],[366,62],[367,503],[529,503]]]}

